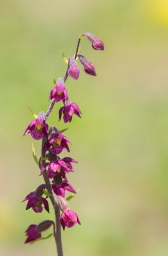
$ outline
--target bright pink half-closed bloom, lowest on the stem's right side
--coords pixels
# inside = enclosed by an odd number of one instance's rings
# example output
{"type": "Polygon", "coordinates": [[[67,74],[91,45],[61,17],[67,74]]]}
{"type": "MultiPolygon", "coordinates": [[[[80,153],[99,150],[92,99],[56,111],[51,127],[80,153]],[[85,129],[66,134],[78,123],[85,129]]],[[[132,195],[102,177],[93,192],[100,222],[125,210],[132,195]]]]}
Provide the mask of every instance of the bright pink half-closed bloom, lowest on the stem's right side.
{"type": "Polygon", "coordinates": [[[61,214],[60,224],[64,230],[66,227],[73,227],[76,223],[81,224],[78,215],[73,210],[67,209],[61,214]]]}

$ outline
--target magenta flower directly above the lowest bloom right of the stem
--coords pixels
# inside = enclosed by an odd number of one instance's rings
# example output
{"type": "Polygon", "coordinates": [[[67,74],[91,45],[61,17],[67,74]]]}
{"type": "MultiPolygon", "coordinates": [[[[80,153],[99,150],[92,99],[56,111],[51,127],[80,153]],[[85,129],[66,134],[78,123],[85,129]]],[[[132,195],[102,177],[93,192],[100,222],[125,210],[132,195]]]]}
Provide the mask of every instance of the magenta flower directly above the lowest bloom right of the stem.
{"type": "Polygon", "coordinates": [[[53,192],[57,196],[60,195],[65,197],[66,190],[72,193],[76,193],[73,186],[67,180],[62,180],[62,177],[60,175],[55,175],[53,179],[52,188],[53,192]]]}

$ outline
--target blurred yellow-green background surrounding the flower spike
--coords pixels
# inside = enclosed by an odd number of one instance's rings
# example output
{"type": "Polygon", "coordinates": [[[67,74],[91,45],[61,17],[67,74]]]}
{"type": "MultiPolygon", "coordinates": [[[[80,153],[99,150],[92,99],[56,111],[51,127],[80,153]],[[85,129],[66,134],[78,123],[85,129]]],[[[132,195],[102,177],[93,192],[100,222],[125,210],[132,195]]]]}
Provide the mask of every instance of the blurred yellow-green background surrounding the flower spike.
{"type": "Polygon", "coordinates": [[[70,203],[81,226],[62,232],[64,254],[167,256],[167,0],[0,1],[0,255],[56,255],[52,238],[24,245],[25,229],[53,213],[21,204],[43,182],[32,138],[22,134],[32,120],[27,106],[46,111],[53,78],[66,70],[60,52],[73,55],[84,32],[106,51],[82,40],[97,77],[81,70],[77,82],[67,79],[82,118],[58,123],[57,104],[48,120],[69,127],[69,156],[79,161],[69,180],[80,188],[70,203]]]}

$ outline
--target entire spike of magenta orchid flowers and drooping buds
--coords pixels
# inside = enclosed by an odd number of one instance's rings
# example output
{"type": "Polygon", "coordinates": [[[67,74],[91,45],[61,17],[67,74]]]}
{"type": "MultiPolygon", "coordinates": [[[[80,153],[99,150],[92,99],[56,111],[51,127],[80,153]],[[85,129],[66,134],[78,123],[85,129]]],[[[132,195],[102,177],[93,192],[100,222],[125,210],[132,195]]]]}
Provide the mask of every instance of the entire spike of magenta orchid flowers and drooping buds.
{"type": "MultiPolygon", "coordinates": [[[[34,212],[40,213],[44,208],[47,212],[49,212],[48,198],[50,198],[53,207],[59,207],[59,209],[62,211],[59,221],[64,230],[66,227],[73,227],[76,223],[80,224],[78,215],[76,212],[70,209],[65,198],[66,191],[74,194],[76,193],[69,180],[67,180],[67,175],[74,172],[73,164],[78,162],[71,157],[60,157],[63,150],[66,150],[68,153],[70,152],[69,144],[71,143],[63,134],[64,131],[59,131],[53,125],[49,128],[48,124],[46,124],[46,120],[48,119],[55,102],[60,102],[63,104],[63,106],[61,106],[59,109],[59,121],[61,120],[62,116],[64,123],[70,123],[73,115],[81,117],[80,107],[75,102],[71,102],[65,82],[67,76],[72,77],[74,80],[77,80],[80,76],[80,68],[76,62],[78,59],[83,65],[83,69],[87,74],[91,76],[97,75],[94,64],[88,61],[85,56],[79,54],[80,40],[84,36],[87,36],[88,40],[92,42],[93,49],[101,51],[104,50],[103,42],[94,35],[90,33],[83,33],[80,36],[76,54],[74,57],[71,56],[69,57],[69,60],[66,60],[66,74],[64,77],[60,77],[57,79],[57,81],[55,81],[54,87],[50,92],[49,101],[51,103],[46,115],[43,111],[41,111],[38,116],[33,115],[35,119],[32,120],[24,132],[24,136],[30,133],[34,140],[43,139],[41,157],[38,159],[34,152],[33,156],[40,168],[40,176],[43,175],[45,179],[45,184],[41,184],[35,191],[32,191],[29,193],[29,195],[25,196],[23,202],[27,201],[26,210],[32,208],[34,212]],[[55,195],[57,196],[57,200],[55,199],[55,195]]],[[[47,220],[42,221],[39,223],[39,225],[32,224],[29,226],[29,228],[27,228],[25,231],[27,236],[25,243],[31,243],[32,241],[41,239],[41,232],[50,228],[51,225],[53,225],[53,233],[55,237],[57,237],[57,234],[55,233],[55,223],[47,220]]]]}

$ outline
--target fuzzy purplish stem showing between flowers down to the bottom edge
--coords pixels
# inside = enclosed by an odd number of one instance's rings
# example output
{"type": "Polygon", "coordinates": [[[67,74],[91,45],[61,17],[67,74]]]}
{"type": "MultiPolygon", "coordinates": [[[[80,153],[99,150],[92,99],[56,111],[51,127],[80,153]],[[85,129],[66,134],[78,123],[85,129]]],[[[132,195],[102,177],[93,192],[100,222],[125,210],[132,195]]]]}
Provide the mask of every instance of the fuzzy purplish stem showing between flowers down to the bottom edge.
{"type": "MultiPolygon", "coordinates": [[[[79,38],[78,39],[78,44],[77,44],[77,47],[76,47],[75,56],[74,56],[75,59],[78,56],[78,50],[79,50],[79,47],[80,47],[80,40],[81,39],[79,38]]],[[[64,77],[63,77],[64,83],[66,82],[67,77],[68,77],[68,67],[67,67],[66,73],[64,74],[64,77]]],[[[50,106],[49,106],[48,110],[46,111],[45,121],[48,119],[48,117],[52,113],[52,109],[53,109],[54,105],[55,105],[55,99],[52,99],[52,101],[50,103],[50,106]]],[[[45,152],[43,151],[43,148],[44,148],[46,140],[47,140],[47,138],[43,138],[43,140],[42,140],[42,145],[41,145],[41,161],[40,161],[41,163],[39,164],[40,168],[42,168],[42,166],[45,164],[45,160],[43,160],[44,157],[45,157],[45,152]]],[[[45,180],[46,189],[48,190],[48,192],[51,195],[50,196],[50,200],[52,202],[53,209],[54,209],[54,212],[55,212],[56,230],[54,232],[54,238],[55,238],[55,243],[56,243],[56,246],[57,246],[57,255],[58,256],[63,256],[62,239],[61,239],[61,226],[60,226],[60,220],[59,220],[60,219],[59,205],[57,203],[57,200],[55,199],[55,195],[53,193],[52,185],[50,183],[50,180],[48,179],[48,176],[46,174],[46,170],[43,173],[43,178],[45,180]]]]}

